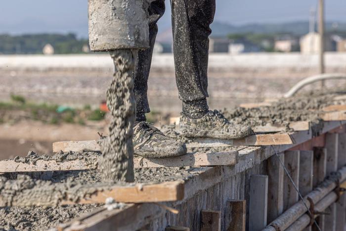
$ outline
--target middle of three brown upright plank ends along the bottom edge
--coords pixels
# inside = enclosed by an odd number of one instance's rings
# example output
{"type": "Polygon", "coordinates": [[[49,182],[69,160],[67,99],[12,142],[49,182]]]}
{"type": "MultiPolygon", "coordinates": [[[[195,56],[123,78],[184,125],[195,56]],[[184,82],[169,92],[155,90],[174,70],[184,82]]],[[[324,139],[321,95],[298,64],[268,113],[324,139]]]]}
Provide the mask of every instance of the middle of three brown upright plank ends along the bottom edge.
{"type": "Polygon", "coordinates": [[[221,211],[202,210],[201,231],[221,231],[221,211]]]}

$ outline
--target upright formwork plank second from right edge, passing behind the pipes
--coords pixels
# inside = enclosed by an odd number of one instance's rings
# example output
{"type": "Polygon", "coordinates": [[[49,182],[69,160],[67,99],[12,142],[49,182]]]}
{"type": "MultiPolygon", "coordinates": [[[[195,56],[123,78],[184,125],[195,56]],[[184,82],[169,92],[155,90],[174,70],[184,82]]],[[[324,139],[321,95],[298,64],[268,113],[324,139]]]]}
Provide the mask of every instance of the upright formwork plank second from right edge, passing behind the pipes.
{"type": "MultiPolygon", "coordinates": [[[[327,175],[338,169],[338,133],[326,134],[326,149],[327,149],[327,175]]],[[[333,203],[327,209],[329,214],[325,215],[325,227],[328,227],[330,231],[336,231],[336,204],[333,203]]]]}

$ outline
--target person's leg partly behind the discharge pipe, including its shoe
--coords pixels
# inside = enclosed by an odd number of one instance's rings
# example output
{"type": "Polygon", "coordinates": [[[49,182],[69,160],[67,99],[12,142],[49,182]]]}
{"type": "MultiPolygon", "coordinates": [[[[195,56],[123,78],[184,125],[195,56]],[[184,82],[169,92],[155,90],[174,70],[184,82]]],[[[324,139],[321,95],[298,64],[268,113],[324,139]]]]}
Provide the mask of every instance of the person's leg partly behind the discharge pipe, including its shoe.
{"type": "Polygon", "coordinates": [[[150,48],[139,51],[134,71],[134,97],[136,100],[136,123],[133,127],[134,153],[151,158],[179,156],[186,153],[184,143],[166,137],[152,124],[147,123],[144,115],[150,112],[147,98],[147,81],[157,34],[156,22],[163,15],[164,11],[165,0],[156,0],[150,3],[150,48]]]}

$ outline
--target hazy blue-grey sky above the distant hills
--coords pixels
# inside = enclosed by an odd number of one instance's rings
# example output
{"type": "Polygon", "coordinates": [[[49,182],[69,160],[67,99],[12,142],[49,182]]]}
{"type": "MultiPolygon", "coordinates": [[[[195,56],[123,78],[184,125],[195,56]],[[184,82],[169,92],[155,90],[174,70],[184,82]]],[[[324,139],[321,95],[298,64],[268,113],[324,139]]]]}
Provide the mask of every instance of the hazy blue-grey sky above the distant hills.
{"type": "MultiPolygon", "coordinates": [[[[216,0],[214,21],[233,25],[307,21],[318,0],[216,0]]],[[[346,0],[325,0],[326,20],[346,22],[346,0]]],[[[170,1],[159,33],[171,26],[170,1]]],[[[0,33],[76,33],[87,37],[87,0],[3,0],[0,33]]]]}

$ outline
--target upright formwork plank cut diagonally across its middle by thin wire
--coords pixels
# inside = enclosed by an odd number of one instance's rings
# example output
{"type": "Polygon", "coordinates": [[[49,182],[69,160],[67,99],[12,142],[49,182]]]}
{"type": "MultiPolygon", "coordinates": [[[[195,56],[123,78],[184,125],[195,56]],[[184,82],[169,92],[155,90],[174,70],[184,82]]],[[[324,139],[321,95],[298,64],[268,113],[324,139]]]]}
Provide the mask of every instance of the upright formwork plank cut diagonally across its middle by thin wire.
{"type": "MultiPolygon", "coordinates": [[[[294,184],[299,188],[300,151],[285,151],[285,167],[293,179],[294,184]]],[[[284,211],[294,205],[298,200],[298,192],[296,191],[289,177],[285,174],[284,211]]]]}

